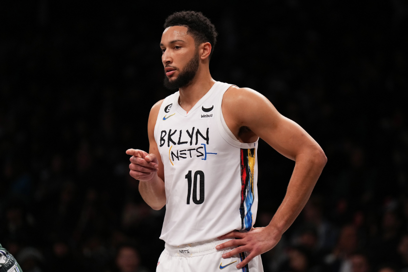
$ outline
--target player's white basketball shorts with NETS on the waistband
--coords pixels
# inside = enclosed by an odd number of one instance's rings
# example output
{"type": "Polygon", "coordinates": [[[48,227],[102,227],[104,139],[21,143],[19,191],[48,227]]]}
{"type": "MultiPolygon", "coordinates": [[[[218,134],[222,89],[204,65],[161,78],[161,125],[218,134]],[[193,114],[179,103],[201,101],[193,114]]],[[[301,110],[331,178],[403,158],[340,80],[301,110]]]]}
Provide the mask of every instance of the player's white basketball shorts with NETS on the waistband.
{"type": "Polygon", "coordinates": [[[156,272],[263,272],[261,256],[252,259],[248,265],[237,269],[237,265],[248,253],[243,252],[224,259],[222,255],[235,247],[216,250],[215,247],[232,239],[211,239],[204,242],[181,245],[178,247],[165,244],[165,250],[159,257],[156,272]]]}

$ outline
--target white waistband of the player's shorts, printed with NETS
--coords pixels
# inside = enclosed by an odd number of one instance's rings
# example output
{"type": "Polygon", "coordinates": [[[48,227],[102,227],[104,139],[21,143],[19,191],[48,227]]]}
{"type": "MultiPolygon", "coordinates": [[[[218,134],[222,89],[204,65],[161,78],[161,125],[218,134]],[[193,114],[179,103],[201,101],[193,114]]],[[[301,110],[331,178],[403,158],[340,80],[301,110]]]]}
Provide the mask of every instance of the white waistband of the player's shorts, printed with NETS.
{"type": "Polygon", "coordinates": [[[181,257],[193,257],[199,255],[206,255],[216,252],[216,246],[219,244],[225,243],[229,240],[233,240],[234,238],[227,238],[220,240],[218,238],[214,238],[211,240],[206,240],[197,243],[185,244],[180,246],[171,246],[168,243],[164,245],[165,251],[171,256],[181,256],[181,257]]]}

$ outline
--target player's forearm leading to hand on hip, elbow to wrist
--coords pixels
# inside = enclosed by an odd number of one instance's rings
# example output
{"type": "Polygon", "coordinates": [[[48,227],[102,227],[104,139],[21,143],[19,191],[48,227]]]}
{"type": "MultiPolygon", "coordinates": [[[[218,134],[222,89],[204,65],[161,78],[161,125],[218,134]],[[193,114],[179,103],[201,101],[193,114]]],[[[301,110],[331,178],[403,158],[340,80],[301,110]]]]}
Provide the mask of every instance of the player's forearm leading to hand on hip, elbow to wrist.
{"type": "Polygon", "coordinates": [[[285,198],[267,226],[272,233],[282,235],[295,221],[306,205],[326,160],[323,151],[300,154],[296,157],[285,198]]]}

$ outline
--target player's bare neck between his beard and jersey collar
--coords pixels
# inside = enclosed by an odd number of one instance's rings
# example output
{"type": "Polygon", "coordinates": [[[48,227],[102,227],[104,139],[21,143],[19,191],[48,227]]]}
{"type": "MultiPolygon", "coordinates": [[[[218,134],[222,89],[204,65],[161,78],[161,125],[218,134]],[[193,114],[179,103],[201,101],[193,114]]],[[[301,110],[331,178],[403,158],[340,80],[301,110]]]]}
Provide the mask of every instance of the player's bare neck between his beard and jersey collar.
{"type": "Polygon", "coordinates": [[[207,67],[199,67],[192,82],[179,89],[179,105],[187,112],[211,89],[215,80],[207,67]]]}

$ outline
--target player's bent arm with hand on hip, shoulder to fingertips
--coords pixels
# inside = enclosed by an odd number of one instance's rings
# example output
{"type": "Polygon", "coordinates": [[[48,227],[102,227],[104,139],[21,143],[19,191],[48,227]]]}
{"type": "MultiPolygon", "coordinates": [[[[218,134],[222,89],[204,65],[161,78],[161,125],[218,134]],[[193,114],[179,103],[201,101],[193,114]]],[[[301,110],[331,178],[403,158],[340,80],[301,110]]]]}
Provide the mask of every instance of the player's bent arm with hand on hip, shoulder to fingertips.
{"type": "Polygon", "coordinates": [[[229,119],[227,125],[233,133],[246,126],[276,151],[295,161],[285,198],[269,225],[253,228],[247,233],[231,232],[220,237],[238,238],[217,246],[217,249],[239,246],[224,254],[224,258],[244,251],[250,252],[237,265],[239,269],[278,243],[305,206],[327,158],[319,144],[302,127],[282,116],[258,92],[248,88],[233,88],[225,93],[222,103],[222,112],[229,119]]]}

